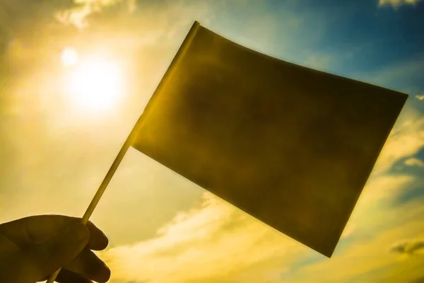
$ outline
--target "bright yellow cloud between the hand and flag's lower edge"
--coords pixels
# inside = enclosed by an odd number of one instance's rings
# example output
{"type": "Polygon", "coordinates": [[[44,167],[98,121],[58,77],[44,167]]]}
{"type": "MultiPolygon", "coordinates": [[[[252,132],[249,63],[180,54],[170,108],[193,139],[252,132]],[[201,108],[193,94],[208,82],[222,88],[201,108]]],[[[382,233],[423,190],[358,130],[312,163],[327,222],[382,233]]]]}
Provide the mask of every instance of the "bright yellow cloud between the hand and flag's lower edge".
{"type": "Polygon", "coordinates": [[[112,282],[263,282],[307,251],[287,236],[206,193],[155,238],[100,256],[112,282]]]}

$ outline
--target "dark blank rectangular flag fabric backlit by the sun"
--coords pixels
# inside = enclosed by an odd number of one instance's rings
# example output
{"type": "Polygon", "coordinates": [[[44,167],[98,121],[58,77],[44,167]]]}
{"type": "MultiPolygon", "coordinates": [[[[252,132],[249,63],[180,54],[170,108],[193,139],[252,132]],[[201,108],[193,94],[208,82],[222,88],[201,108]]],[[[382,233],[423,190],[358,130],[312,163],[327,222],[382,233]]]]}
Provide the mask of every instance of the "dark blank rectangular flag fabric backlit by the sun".
{"type": "Polygon", "coordinates": [[[195,22],[131,146],[331,257],[407,98],[195,22]]]}

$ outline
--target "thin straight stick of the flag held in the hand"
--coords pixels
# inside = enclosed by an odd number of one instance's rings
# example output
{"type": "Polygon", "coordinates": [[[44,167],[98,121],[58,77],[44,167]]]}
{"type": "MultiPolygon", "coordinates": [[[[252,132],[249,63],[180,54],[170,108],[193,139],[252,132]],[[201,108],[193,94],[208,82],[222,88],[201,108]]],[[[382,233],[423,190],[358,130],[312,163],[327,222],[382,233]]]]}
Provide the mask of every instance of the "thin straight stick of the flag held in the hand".
{"type": "MultiPolygon", "coordinates": [[[[185,37],[184,41],[182,42],[182,45],[179,47],[179,50],[177,51],[177,54],[175,54],[174,59],[172,59],[172,62],[170,64],[170,67],[168,67],[167,71],[163,75],[163,78],[160,80],[160,83],[158,84],[158,87],[156,88],[155,92],[153,93],[151,97],[151,101],[154,100],[158,93],[160,93],[163,88],[167,85],[167,83],[170,81],[170,78],[172,77],[172,74],[175,72],[175,67],[185,54],[187,52],[187,48],[189,47],[189,44],[192,42],[194,35],[196,35],[197,30],[199,30],[200,23],[198,21],[194,21],[192,28],[190,28],[189,33],[187,33],[187,36],[185,37]]],[[[88,205],[88,208],[86,212],[83,215],[83,218],[81,219],[81,223],[86,225],[88,222],[88,219],[90,219],[91,214],[93,214],[95,207],[97,206],[98,202],[100,201],[100,198],[102,197],[103,193],[106,190],[107,185],[109,185],[110,180],[112,180],[112,177],[114,173],[117,171],[117,168],[119,164],[121,163],[122,159],[124,158],[126,151],[128,151],[129,147],[134,144],[134,141],[136,140],[137,134],[139,133],[139,130],[143,126],[143,121],[146,119],[146,116],[148,115],[149,105],[152,105],[153,103],[148,103],[146,108],[144,109],[143,113],[139,117],[139,120],[136,122],[136,125],[131,130],[131,133],[129,134],[128,138],[126,138],[126,141],[124,142],[124,145],[122,146],[121,150],[119,150],[119,153],[117,157],[114,159],[112,166],[110,166],[109,171],[107,171],[105,178],[102,180],[102,183],[100,184],[97,192],[95,192],[95,195],[93,197],[93,200],[91,200],[90,204],[88,205]]],[[[50,275],[49,279],[46,283],[53,283],[56,279],[57,275],[59,275],[61,268],[59,270],[56,270],[55,272],[50,275]]]]}

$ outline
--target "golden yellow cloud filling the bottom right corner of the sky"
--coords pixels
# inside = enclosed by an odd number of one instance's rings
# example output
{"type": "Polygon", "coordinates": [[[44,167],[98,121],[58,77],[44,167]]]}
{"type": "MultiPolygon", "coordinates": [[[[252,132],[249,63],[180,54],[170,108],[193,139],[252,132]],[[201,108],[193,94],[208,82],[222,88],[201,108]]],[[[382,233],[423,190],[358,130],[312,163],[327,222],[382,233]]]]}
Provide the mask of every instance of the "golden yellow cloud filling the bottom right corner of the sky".
{"type": "MultiPolygon", "coordinates": [[[[422,238],[423,219],[414,219],[421,213],[423,208],[419,203],[386,211],[386,219],[391,216],[397,218],[396,224],[389,229],[368,233],[367,237],[356,241],[355,245],[349,246],[343,253],[338,253],[331,260],[307,265],[293,274],[293,277],[298,278],[299,282],[406,282],[418,277],[422,275],[422,257],[399,258],[396,253],[389,253],[387,247],[391,246],[396,237],[422,238]],[[396,215],[405,209],[411,209],[413,216],[396,215]]],[[[418,253],[422,250],[422,241],[416,243],[416,246],[411,243],[411,247],[418,253]]]]}

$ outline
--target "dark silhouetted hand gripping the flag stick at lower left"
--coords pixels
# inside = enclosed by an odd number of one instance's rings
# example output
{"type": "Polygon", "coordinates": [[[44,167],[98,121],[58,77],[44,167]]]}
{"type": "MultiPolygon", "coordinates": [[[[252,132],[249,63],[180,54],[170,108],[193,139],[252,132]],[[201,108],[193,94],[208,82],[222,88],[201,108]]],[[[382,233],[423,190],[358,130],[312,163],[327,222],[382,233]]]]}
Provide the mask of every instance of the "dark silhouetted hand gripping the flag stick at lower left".
{"type": "Polygon", "coordinates": [[[63,267],[60,283],[107,282],[110,270],[91,250],[107,247],[93,223],[61,215],[30,216],[0,224],[0,282],[45,281],[63,267]]]}

